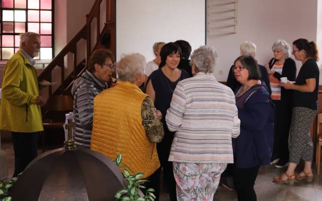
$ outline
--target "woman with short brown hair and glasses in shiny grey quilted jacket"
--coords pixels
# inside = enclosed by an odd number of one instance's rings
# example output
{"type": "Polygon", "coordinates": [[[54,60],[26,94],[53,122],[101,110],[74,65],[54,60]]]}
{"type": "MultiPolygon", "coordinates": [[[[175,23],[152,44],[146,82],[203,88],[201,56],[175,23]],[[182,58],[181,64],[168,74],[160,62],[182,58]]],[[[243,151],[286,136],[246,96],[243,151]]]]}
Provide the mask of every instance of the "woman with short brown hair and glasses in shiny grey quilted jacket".
{"type": "Polygon", "coordinates": [[[93,104],[97,94],[107,89],[107,82],[115,70],[113,53],[107,49],[95,50],[89,68],[77,78],[71,88],[74,99],[73,136],[76,145],[90,148],[93,127],[93,104]]]}

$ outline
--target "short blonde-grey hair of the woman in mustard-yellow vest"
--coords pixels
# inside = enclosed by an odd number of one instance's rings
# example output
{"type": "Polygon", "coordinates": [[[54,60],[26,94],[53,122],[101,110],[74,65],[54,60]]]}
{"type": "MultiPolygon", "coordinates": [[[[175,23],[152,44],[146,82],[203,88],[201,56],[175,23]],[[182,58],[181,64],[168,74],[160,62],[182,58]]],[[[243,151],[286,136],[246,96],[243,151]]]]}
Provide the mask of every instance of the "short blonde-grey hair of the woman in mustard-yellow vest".
{"type": "Polygon", "coordinates": [[[139,53],[122,55],[116,65],[116,73],[119,76],[119,80],[133,83],[138,73],[144,73],[145,63],[145,57],[139,53]]]}

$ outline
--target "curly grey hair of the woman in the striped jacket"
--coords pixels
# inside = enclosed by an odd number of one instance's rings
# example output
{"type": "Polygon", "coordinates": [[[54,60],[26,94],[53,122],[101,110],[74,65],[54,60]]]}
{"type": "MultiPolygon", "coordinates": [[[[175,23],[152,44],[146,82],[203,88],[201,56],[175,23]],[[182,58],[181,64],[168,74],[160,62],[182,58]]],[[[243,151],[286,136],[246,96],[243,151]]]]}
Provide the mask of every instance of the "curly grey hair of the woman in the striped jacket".
{"type": "Polygon", "coordinates": [[[191,55],[191,62],[196,66],[197,72],[213,73],[218,62],[218,54],[214,47],[200,46],[191,55]]]}

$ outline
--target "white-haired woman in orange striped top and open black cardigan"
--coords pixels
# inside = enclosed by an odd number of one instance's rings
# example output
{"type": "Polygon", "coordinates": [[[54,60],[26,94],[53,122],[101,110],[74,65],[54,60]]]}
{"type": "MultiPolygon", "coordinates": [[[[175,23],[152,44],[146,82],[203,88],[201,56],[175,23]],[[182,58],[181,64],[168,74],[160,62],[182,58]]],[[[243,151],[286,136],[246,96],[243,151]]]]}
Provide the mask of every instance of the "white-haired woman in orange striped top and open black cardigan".
{"type": "Polygon", "coordinates": [[[290,58],[291,48],[286,41],[275,41],[272,51],[274,58],[266,66],[270,75],[271,98],[275,103],[274,146],[271,160],[272,163],[277,162],[275,167],[281,168],[288,164],[288,135],[292,119],[293,97],[293,90],[281,87],[281,78],[286,77],[287,80],[294,81],[296,65],[295,61],[290,58]]]}

